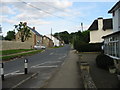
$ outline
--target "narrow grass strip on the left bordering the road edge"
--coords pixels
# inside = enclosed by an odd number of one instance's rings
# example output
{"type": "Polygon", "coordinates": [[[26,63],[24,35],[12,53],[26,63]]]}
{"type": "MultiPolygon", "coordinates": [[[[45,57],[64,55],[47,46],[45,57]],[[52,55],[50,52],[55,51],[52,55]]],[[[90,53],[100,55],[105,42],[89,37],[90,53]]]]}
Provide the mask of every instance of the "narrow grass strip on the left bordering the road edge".
{"type": "MultiPolygon", "coordinates": [[[[10,59],[19,58],[19,57],[22,57],[22,56],[33,55],[33,54],[35,54],[35,53],[39,53],[39,52],[42,52],[42,51],[43,51],[43,50],[35,50],[35,51],[26,52],[26,53],[21,53],[21,54],[17,54],[17,55],[3,56],[3,57],[2,57],[2,60],[3,60],[3,61],[7,61],[7,60],[10,60],[10,59]]],[[[1,57],[0,57],[0,58],[1,58],[1,57]]]]}

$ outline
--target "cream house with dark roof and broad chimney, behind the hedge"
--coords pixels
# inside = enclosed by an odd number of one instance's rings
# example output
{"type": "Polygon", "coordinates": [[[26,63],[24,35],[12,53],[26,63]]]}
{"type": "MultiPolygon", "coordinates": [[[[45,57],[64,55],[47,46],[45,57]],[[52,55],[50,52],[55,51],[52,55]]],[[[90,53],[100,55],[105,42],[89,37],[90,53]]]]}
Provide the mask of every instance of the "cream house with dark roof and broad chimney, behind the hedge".
{"type": "Polygon", "coordinates": [[[102,43],[102,37],[113,32],[112,18],[98,18],[94,20],[94,22],[91,24],[88,30],[90,30],[89,43],[102,43]]]}

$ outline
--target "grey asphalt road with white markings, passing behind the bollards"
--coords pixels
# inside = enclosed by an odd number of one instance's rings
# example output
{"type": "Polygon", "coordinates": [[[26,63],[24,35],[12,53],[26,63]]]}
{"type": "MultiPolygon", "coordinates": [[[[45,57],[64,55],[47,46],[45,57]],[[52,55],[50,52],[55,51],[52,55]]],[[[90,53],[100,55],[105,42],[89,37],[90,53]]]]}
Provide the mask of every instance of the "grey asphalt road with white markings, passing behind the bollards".
{"type": "MultiPolygon", "coordinates": [[[[47,78],[49,78],[49,76],[54,72],[54,70],[64,63],[64,60],[67,57],[69,51],[70,45],[65,45],[61,48],[48,49],[45,52],[25,57],[29,61],[29,72],[38,72],[38,76],[41,78],[35,77],[36,79],[34,78],[33,80],[30,80],[28,83],[20,86],[20,88],[39,88],[40,83],[42,83],[41,80],[47,80],[47,78]],[[34,85],[33,82],[35,82],[34,85]]],[[[15,72],[23,72],[23,70],[24,58],[19,58],[4,63],[5,76],[11,75],[15,72]]]]}

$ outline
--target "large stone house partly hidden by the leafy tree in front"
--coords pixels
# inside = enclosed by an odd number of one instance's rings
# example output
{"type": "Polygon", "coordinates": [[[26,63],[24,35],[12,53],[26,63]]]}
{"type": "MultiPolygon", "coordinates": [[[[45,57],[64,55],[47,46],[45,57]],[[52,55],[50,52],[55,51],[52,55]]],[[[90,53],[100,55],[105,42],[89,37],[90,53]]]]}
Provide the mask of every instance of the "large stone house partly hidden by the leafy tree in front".
{"type": "MultiPolygon", "coordinates": [[[[33,48],[34,45],[41,45],[42,44],[42,35],[40,35],[35,30],[35,27],[33,27],[33,28],[28,27],[28,28],[30,29],[31,36],[25,42],[30,42],[31,48],[33,48]]],[[[21,41],[19,32],[17,32],[15,39],[16,39],[16,41],[21,41]]]]}

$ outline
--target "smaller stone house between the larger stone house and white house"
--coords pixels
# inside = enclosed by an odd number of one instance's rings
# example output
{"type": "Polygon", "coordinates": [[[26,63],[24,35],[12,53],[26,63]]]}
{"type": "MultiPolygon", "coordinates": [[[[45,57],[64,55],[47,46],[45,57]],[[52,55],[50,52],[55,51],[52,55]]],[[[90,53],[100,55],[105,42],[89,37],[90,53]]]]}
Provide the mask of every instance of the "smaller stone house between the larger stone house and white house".
{"type": "Polygon", "coordinates": [[[53,47],[54,43],[49,37],[44,35],[42,37],[42,45],[44,45],[46,47],[53,47]]]}

